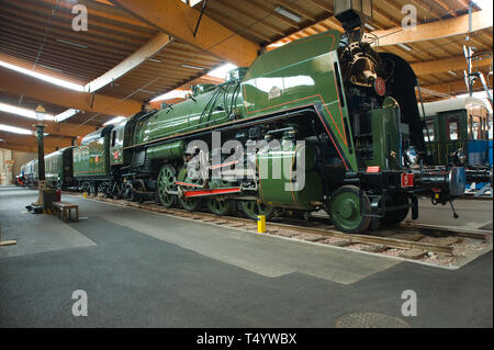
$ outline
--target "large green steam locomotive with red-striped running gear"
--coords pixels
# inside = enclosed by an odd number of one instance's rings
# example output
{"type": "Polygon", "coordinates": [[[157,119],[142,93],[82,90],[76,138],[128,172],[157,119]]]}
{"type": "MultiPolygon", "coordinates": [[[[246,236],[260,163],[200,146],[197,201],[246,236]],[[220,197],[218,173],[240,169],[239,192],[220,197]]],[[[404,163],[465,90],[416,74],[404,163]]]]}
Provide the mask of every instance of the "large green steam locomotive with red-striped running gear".
{"type": "Polygon", "coordinates": [[[224,83],[86,136],[72,150],[75,183],[250,218],[324,208],[347,233],[411,210],[417,218],[417,195],[462,195],[463,167],[428,166],[409,65],[346,29],[262,53],[224,83]]]}

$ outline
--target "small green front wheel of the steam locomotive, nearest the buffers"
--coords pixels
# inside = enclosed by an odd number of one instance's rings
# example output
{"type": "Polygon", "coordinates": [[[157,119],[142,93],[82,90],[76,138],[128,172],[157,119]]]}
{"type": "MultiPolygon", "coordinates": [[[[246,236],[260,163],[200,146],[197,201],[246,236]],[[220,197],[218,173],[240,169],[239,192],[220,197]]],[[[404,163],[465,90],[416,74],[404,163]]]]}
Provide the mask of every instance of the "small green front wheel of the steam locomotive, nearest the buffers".
{"type": "MultiPolygon", "coordinates": [[[[370,202],[367,195],[362,196],[363,212],[370,213],[370,202]]],[[[358,234],[364,232],[371,222],[369,216],[360,213],[359,188],[343,185],[336,190],[329,200],[329,217],[344,233],[358,234]]]]}

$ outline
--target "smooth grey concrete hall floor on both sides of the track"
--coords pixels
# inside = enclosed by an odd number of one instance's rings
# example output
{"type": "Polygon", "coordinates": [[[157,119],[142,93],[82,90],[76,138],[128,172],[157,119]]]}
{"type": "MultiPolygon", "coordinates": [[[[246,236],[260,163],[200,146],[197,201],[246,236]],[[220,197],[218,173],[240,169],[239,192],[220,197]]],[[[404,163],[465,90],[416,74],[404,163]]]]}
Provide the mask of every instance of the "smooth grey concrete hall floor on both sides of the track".
{"type": "MultiPolygon", "coordinates": [[[[444,270],[64,196],[79,223],[0,188],[0,327],[334,327],[371,312],[411,327],[492,327],[492,251],[444,270]],[[88,294],[88,317],[71,314],[88,294]],[[417,294],[404,317],[402,292],[417,294]]],[[[424,203],[423,223],[492,227],[492,202],[424,203]]]]}

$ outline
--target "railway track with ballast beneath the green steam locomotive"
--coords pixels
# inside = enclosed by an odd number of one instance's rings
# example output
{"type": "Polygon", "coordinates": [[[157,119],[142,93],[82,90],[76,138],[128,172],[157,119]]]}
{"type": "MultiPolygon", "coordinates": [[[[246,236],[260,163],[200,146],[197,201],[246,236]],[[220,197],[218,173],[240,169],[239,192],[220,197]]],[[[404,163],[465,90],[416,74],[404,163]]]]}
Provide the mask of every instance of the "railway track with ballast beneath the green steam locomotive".
{"type": "MultiPolygon", "coordinates": [[[[82,196],[75,193],[70,195],[82,196]]],[[[238,228],[248,232],[257,232],[257,223],[243,217],[218,216],[204,212],[188,212],[182,208],[166,208],[154,203],[137,203],[126,200],[113,200],[102,196],[91,200],[113,203],[122,206],[135,207],[156,213],[172,215],[198,222],[214,224],[223,227],[238,228]]],[[[398,249],[404,258],[419,259],[426,255],[453,256],[454,245],[463,239],[476,240],[485,244],[492,240],[492,236],[485,230],[463,229],[452,227],[438,227],[422,224],[403,223],[388,229],[369,230],[367,235],[345,234],[335,229],[325,215],[315,214],[308,219],[276,218],[267,223],[268,235],[282,236],[322,242],[330,246],[348,247],[359,246],[358,250],[384,253],[389,249],[398,249]]]]}

